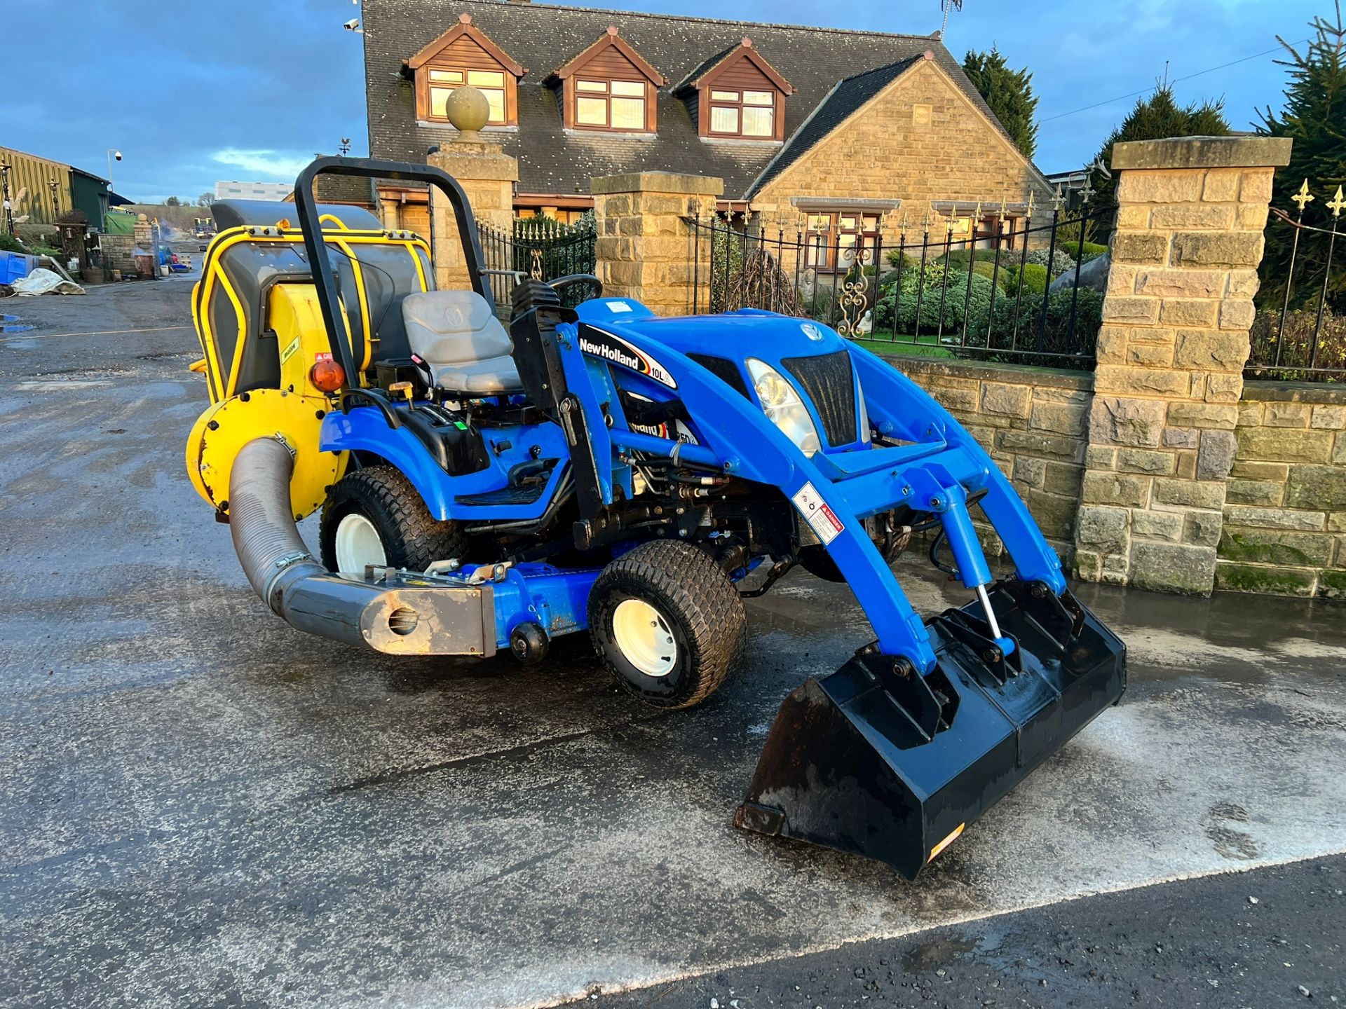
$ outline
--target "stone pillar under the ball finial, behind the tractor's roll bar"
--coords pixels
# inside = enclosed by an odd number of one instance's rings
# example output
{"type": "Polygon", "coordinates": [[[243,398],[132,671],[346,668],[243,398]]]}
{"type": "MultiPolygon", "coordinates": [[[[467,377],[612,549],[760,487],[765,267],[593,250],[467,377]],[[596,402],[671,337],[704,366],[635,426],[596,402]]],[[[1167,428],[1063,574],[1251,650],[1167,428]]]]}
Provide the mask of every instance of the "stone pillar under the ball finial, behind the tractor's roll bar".
{"type": "MultiPolygon", "coordinates": [[[[472,143],[462,139],[444,144],[425,159],[458,179],[467,194],[476,219],[509,231],[514,219],[514,183],[518,182],[518,159],[503,153],[499,144],[472,143]]],[[[440,288],[468,288],[463,244],[448,202],[437,188],[429,192],[429,219],[435,253],[435,283],[440,288]]]]}

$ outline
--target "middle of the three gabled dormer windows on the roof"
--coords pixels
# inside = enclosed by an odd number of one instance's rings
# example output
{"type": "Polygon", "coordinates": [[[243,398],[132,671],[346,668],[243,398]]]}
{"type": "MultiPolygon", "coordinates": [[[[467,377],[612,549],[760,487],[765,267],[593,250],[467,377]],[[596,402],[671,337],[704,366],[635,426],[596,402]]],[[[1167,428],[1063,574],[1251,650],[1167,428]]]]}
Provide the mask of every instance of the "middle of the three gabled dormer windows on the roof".
{"type": "Polygon", "coordinates": [[[569,63],[552,71],[546,83],[560,86],[567,129],[653,133],[656,97],[668,78],[614,27],[569,63]]]}

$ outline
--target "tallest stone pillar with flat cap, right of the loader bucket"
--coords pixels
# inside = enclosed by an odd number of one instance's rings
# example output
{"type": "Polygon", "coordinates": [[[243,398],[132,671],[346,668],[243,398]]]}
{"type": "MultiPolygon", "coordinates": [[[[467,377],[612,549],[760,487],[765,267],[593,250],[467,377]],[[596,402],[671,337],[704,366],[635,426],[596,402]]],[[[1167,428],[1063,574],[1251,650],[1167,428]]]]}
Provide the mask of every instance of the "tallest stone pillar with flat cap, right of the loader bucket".
{"type": "Polygon", "coordinates": [[[1263,229],[1291,141],[1117,144],[1078,577],[1209,595],[1248,361],[1263,229]]]}

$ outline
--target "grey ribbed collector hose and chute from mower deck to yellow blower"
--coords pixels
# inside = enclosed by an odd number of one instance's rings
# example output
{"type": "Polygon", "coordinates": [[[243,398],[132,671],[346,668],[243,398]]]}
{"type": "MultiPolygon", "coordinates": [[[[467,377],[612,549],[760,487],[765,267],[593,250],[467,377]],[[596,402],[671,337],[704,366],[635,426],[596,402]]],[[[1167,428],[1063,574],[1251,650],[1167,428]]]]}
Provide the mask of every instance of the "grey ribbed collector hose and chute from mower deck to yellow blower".
{"type": "Polygon", "coordinates": [[[276,616],[320,638],[392,655],[493,655],[493,589],[393,569],[363,580],[314,560],[291,511],[295,459],[279,437],[249,441],[229,476],[229,531],[248,581],[276,616]]]}

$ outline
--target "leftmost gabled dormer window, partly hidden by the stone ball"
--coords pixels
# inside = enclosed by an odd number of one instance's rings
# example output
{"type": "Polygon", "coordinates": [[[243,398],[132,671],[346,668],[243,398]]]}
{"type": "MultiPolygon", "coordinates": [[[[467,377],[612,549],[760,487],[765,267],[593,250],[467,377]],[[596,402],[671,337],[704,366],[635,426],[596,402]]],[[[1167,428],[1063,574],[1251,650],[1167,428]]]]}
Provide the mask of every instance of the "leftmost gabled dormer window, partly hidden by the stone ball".
{"type": "Polygon", "coordinates": [[[405,63],[416,82],[416,118],[448,122],[448,96],[471,85],[490,102],[490,126],[517,122],[518,78],[528,71],[472,24],[470,13],[405,63]]]}

